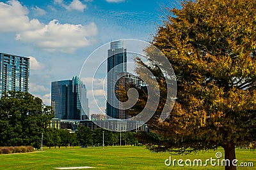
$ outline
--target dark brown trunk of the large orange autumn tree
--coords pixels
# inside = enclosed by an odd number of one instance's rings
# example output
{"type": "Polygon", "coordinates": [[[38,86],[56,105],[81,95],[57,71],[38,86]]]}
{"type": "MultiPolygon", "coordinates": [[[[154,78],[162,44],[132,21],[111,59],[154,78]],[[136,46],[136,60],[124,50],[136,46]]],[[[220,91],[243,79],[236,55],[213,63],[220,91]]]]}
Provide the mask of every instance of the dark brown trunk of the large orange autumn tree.
{"type": "Polygon", "coordinates": [[[230,161],[229,166],[228,163],[226,164],[225,170],[236,170],[236,166],[234,166],[234,164],[236,164],[236,162],[234,162],[234,159],[236,159],[234,143],[228,142],[226,145],[223,145],[223,148],[225,151],[225,160],[228,159],[230,161]]]}

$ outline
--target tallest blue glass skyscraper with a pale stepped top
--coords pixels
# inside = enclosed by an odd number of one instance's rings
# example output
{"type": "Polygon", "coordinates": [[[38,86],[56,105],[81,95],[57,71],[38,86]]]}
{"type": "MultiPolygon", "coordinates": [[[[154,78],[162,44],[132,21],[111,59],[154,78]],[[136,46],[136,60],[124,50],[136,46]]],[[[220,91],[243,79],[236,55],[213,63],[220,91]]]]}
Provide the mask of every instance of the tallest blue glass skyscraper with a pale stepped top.
{"type": "Polygon", "coordinates": [[[115,102],[115,85],[118,74],[127,71],[127,50],[124,41],[113,41],[108,50],[108,101],[106,106],[107,115],[118,118],[118,103],[115,102]]]}

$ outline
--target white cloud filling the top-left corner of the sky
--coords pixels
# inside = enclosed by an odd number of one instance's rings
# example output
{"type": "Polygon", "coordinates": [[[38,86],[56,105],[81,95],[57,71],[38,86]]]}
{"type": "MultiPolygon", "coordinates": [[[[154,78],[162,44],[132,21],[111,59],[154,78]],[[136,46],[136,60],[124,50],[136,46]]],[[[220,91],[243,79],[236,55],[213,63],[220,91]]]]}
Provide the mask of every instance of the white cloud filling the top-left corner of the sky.
{"type": "Polygon", "coordinates": [[[0,31],[2,32],[24,31],[42,27],[38,20],[29,20],[28,8],[22,6],[19,1],[0,2],[0,11],[0,31]]]}

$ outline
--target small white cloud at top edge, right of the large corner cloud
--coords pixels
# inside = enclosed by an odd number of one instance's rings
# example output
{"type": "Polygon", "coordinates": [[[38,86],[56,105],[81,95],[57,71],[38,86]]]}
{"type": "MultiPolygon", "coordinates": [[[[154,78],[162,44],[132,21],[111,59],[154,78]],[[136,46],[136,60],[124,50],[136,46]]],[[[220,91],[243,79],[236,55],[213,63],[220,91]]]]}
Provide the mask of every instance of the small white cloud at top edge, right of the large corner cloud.
{"type": "Polygon", "coordinates": [[[72,10],[76,10],[76,11],[81,11],[83,12],[84,9],[87,8],[86,4],[81,3],[81,1],[79,0],[73,0],[70,4],[65,4],[63,2],[63,0],[54,0],[54,4],[60,4],[61,6],[63,6],[64,8],[66,8],[66,10],[68,11],[72,11],[72,10]]]}

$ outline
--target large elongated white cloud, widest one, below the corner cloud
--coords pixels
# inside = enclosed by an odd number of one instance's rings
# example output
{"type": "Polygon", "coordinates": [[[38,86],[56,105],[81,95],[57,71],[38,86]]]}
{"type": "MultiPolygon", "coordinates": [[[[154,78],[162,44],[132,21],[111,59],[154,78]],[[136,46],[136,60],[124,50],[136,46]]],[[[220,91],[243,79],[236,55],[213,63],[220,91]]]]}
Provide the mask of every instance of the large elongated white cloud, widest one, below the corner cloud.
{"type": "Polygon", "coordinates": [[[76,48],[92,44],[89,36],[97,34],[97,26],[92,22],[89,25],[60,24],[52,20],[42,29],[24,31],[17,34],[16,39],[48,51],[61,51],[72,53],[76,48]]]}

